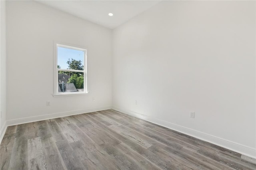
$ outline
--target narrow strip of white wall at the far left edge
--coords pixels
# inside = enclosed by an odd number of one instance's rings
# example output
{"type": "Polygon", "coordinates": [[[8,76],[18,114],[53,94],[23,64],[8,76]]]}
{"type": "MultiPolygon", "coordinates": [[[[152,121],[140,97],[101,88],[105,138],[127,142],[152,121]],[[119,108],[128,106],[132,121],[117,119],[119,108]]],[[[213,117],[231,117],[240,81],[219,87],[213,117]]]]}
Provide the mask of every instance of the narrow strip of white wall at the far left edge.
{"type": "Polygon", "coordinates": [[[6,121],[6,15],[5,1],[0,1],[0,141],[6,121]]]}

